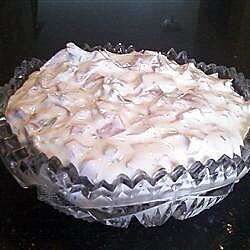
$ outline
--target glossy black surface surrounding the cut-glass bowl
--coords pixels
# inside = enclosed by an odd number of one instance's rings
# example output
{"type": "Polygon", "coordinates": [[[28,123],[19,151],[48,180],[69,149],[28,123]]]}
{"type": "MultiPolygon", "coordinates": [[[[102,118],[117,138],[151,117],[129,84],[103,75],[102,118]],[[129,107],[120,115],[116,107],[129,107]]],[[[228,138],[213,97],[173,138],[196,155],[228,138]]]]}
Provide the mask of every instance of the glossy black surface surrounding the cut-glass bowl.
{"type": "MultiPolygon", "coordinates": [[[[48,59],[66,42],[186,50],[250,77],[250,1],[0,0],[0,82],[23,59],[48,59]]],[[[22,189],[0,165],[0,249],[250,249],[250,175],[220,204],[184,221],[144,228],[87,223],[22,189]]]]}

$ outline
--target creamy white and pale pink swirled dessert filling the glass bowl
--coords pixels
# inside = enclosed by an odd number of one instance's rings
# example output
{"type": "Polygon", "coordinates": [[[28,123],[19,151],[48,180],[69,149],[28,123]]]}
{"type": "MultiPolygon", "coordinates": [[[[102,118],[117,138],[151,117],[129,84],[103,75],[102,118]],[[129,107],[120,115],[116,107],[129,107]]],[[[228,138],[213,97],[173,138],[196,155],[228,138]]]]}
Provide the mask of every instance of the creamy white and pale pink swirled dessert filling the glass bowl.
{"type": "Polygon", "coordinates": [[[19,139],[93,181],[152,175],[240,154],[250,108],[231,80],[153,51],[117,55],[72,43],[11,96],[19,139]]]}

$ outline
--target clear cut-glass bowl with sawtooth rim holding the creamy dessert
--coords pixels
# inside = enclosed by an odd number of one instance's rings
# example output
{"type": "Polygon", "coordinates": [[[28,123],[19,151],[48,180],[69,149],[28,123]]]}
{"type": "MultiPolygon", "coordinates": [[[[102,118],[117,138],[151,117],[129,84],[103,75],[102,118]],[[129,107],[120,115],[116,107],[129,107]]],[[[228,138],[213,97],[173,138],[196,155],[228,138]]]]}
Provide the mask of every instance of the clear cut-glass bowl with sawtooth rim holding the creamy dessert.
{"type": "MultiPolygon", "coordinates": [[[[85,50],[107,49],[114,53],[130,53],[133,46],[122,44],[89,47],[85,50]]],[[[193,62],[206,74],[218,73],[219,78],[233,78],[233,87],[246,100],[250,99],[250,80],[235,68],[206,65],[188,59],[187,53],[166,53],[179,64],[193,62]]],[[[44,61],[25,60],[14,72],[14,77],[0,87],[0,155],[6,168],[24,187],[37,188],[38,199],[75,218],[99,221],[115,227],[128,227],[136,218],[145,227],[159,226],[171,216],[183,220],[195,216],[223,200],[250,168],[250,143],[246,136],[241,155],[232,158],[223,155],[217,161],[205,164],[196,161],[188,170],[177,166],[171,174],[160,169],[150,177],[143,171],[130,179],[121,174],[112,183],[105,180],[92,183],[88,177],[79,176],[70,164],[62,166],[56,157],[48,159],[32,145],[21,145],[5,119],[4,111],[9,97],[38,70],[44,61]]]]}

